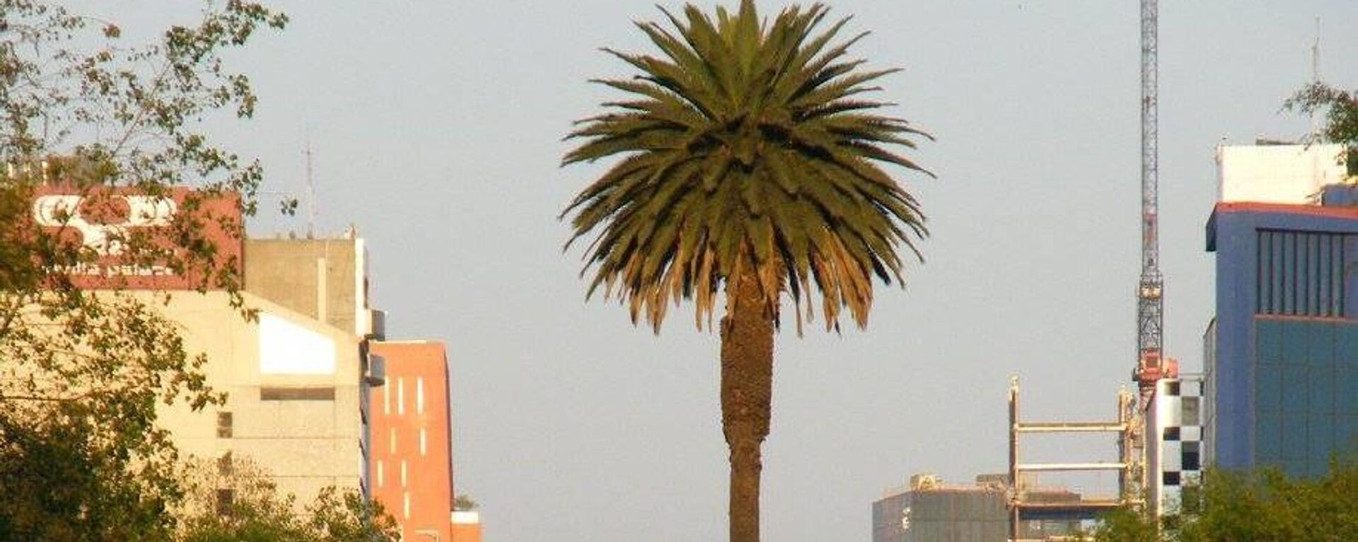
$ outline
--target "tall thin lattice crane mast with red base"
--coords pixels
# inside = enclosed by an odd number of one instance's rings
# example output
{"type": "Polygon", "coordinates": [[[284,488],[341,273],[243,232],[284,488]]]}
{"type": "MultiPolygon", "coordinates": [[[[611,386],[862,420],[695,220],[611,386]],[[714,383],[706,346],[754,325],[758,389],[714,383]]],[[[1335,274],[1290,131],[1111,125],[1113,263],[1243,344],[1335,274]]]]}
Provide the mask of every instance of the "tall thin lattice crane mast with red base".
{"type": "Polygon", "coordinates": [[[1137,285],[1137,368],[1145,410],[1164,376],[1164,277],[1160,274],[1160,141],[1157,0],[1141,0],[1141,280],[1137,285]]]}

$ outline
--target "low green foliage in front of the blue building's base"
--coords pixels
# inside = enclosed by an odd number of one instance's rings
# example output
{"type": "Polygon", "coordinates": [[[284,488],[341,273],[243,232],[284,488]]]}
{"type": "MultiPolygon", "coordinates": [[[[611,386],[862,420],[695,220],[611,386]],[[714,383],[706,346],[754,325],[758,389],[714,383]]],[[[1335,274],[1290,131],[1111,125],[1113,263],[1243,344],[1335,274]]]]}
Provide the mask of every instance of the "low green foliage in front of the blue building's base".
{"type": "Polygon", "coordinates": [[[1093,538],[1100,542],[1358,541],[1358,462],[1336,459],[1319,478],[1287,478],[1277,469],[1255,474],[1210,470],[1202,486],[1186,493],[1183,508],[1183,513],[1168,518],[1158,528],[1148,518],[1120,511],[1093,538]]]}

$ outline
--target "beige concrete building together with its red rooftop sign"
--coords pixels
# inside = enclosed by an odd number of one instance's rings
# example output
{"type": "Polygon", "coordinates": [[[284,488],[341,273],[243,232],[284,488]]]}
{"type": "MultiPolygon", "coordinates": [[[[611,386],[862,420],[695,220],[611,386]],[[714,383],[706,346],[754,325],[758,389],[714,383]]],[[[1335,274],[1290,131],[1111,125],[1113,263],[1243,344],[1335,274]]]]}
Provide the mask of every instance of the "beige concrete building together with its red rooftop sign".
{"type": "MultiPolygon", "coordinates": [[[[130,187],[80,192],[43,185],[33,208],[37,227],[83,245],[88,261],[61,269],[87,291],[118,289],[181,326],[185,350],[205,355],[206,384],[227,402],[194,412],[159,405],[181,456],[216,465],[238,462],[268,473],[282,492],[310,501],[325,486],[367,492],[369,389],[380,371],[368,344],[383,336],[383,318],[368,295],[367,250],[349,231],[337,239],[240,239],[236,201],[204,198],[186,187],[164,197],[130,187]],[[175,265],[124,254],[124,234],[156,246],[181,247],[175,223],[217,247],[210,261],[175,265]],[[204,277],[234,266],[238,296],[204,277]],[[200,292],[198,288],[205,288],[200,292]],[[240,304],[240,306],[236,306],[240,304]],[[243,308],[254,311],[246,318],[243,308]]],[[[171,250],[181,250],[171,249],[171,250]]],[[[232,488],[219,488],[230,500],[232,488]]]]}

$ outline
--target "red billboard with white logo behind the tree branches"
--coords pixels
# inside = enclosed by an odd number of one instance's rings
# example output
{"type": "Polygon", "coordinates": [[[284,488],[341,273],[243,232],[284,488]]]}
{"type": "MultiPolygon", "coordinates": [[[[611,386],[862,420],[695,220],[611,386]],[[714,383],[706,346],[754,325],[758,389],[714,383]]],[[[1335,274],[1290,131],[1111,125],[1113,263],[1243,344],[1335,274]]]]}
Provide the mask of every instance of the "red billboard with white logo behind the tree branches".
{"type": "Polygon", "coordinates": [[[41,265],[76,288],[219,289],[243,276],[232,193],[41,186],[30,217],[54,249],[41,265]]]}

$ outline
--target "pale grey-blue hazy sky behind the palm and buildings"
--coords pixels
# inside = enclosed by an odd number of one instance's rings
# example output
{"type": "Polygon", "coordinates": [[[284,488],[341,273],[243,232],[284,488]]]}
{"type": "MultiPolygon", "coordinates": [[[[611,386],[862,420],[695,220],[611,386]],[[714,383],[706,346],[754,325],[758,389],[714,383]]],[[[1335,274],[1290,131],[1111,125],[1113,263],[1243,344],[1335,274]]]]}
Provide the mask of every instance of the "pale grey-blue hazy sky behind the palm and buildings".
{"type": "MultiPolygon", "coordinates": [[[[185,4],[95,3],[128,29],[185,4]]],[[[486,539],[724,539],[718,338],[693,327],[691,306],[656,336],[587,303],[583,253],[561,250],[557,215],[607,167],[558,167],[561,139],[617,96],[588,79],[631,75],[599,48],[653,52],[630,23],[661,18],[653,3],[274,5],[289,27],[230,57],[258,113],[213,133],[262,160],[265,190],[297,196],[310,139],[316,230],[353,224],[368,240],[390,337],[447,344],[456,490],[481,503],[486,539]]],[[[914,156],[938,178],[894,171],[932,235],[865,331],[777,337],[769,541],[870,539],[870,503],[911,474],[1005,469],[1010,375],[1025,417],[1111,418],[1135,361],[1138,3],[831,7],[872,31],[856,56],[904,68],[877,98],[937,137],[914,156]]],[[[1160,16],[1165,345],[1194,371],[1214,303],[1213,149],[1306,132],[1279,106],[1310,79],[1317,18],[1321,79],[1358,87],[1343,57],[1358,50],[1358,3],[1165,0],[1160,16]]],[[[278,197],[263,196],[253,235],[306,230],[269,211],[278,197]]],[[[1112,444],[1032,450],[1093,460],[1069,454],[1112,444]]]]}

